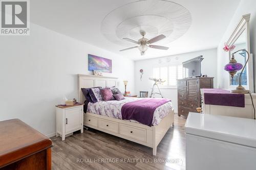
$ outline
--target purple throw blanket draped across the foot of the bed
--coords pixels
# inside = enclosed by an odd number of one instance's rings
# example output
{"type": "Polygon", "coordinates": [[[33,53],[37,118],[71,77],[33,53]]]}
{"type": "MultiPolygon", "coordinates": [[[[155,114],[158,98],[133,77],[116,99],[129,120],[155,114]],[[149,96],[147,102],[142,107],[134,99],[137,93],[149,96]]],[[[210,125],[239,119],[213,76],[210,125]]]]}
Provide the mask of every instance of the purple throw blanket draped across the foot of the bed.
{"type": "Polygon", "coordinates": [[[141,124],[152,126],[156,108],[169,101],[168,99],[151,98],[125,103],[121,108],[122,119],[136,120],[141,124]]]}

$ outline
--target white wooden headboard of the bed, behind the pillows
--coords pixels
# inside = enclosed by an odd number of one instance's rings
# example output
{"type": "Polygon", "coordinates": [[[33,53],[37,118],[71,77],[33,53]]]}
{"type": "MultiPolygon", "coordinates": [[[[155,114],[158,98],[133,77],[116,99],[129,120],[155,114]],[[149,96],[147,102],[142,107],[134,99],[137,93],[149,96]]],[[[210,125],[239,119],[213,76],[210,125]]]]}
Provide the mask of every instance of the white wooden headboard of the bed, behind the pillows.
{"type": "Polygon", "coordinates": [[[81,88],[90,87],[111,87],[117,86],[116,77],[94,76],[94,75],[78,75],[78,102],[83,103],[86,98],[82,93],[81,88]]]}

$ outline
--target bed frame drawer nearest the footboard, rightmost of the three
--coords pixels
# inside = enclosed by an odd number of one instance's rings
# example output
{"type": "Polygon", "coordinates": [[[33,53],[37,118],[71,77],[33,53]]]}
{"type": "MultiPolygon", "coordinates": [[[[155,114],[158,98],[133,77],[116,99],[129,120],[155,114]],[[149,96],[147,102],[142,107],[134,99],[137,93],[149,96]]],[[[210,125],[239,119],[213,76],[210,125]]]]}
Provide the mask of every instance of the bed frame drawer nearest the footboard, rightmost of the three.
{"type": "Polygon", "coordinates": [[[146,129],[119,124],[119,134],[146,142],[146,129]]]}

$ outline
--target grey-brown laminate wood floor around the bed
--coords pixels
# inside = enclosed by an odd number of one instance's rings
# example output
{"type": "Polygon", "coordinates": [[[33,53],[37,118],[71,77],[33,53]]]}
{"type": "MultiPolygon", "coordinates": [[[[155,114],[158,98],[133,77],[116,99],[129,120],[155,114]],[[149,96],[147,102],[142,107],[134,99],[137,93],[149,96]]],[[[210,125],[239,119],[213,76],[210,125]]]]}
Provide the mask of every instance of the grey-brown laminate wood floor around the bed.
{"type": "Polygon", "coordinates": [[[185,122],[175,114],[156,156],[152,148],[94,129],[65,141],[52,137],[52,169],[185,169],[185,122]]]}

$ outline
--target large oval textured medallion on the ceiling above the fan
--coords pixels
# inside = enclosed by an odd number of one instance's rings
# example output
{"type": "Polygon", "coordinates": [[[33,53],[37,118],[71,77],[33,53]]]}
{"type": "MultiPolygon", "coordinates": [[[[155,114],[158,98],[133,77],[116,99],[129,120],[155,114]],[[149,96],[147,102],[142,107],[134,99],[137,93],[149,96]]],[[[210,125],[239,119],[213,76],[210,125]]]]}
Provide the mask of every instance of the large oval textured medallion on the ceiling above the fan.
{"type": "Polygon", "coordinates": [[[148,39],[163,34],[166,38],[159,43],[165,44],[184,35],[190,25],[190,12],[183,6],[165,0],[144,0],[111,11],[101,23],[101,32],[119,45],[131,45],[122,38],[138,40],[140,32],[145,32],[148,39]]]}

